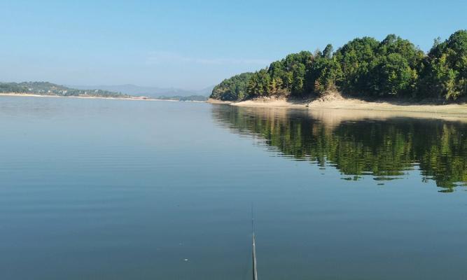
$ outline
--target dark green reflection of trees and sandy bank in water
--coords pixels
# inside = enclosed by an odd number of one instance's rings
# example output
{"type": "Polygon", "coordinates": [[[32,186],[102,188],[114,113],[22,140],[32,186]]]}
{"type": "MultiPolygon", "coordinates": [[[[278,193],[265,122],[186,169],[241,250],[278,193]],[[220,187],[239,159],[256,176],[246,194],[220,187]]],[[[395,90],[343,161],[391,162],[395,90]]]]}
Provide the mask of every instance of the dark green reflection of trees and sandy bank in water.
{"type": "Polygon", "coordinates": [[[390,112],[291,110],[213,106],[214,120],[232,132],[260,137],[288,158],[333,166],[347,180],[398,179],[419,168],[452,192],[467,181],[467,123],[390,112]]]}

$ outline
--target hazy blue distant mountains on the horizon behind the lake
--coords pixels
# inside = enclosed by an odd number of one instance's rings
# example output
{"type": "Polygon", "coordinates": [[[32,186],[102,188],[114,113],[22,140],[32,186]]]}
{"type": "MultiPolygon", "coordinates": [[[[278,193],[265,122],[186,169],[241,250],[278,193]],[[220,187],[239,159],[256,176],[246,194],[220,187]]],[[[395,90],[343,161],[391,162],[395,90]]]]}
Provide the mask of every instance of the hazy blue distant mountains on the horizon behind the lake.
{"type": "Polygon", "coordinates": [[[79,90],[107,90],[109,92],[120,92],[123,94],[134,96],[145,96],[151,98],[159,97],[188,97],[193,95],[202,95],[208,97],[213,86],[206,87],[202,90],[181,90],[179,88],[163,88],[163,87],[142,87],[139,85],[70,85],[70,87],[79,90]]]}

